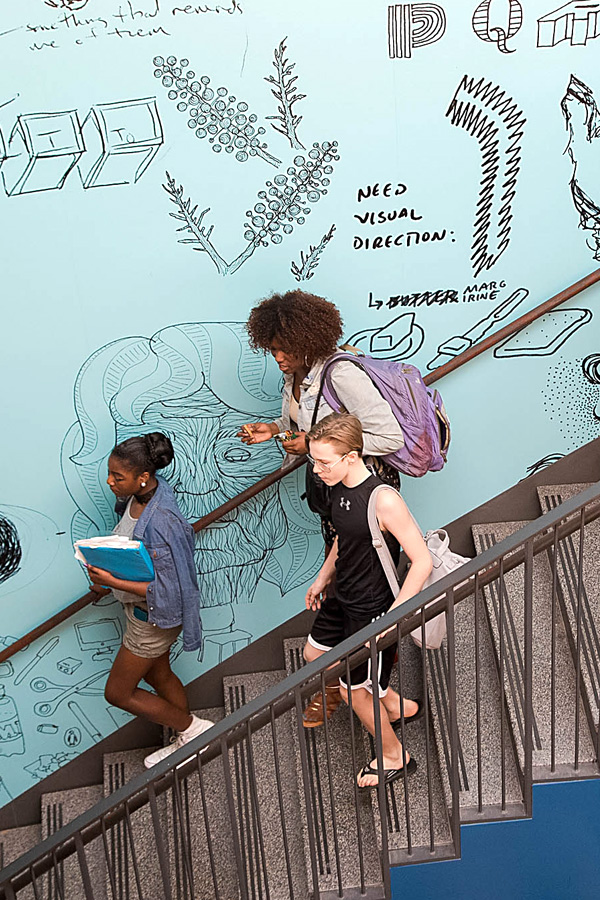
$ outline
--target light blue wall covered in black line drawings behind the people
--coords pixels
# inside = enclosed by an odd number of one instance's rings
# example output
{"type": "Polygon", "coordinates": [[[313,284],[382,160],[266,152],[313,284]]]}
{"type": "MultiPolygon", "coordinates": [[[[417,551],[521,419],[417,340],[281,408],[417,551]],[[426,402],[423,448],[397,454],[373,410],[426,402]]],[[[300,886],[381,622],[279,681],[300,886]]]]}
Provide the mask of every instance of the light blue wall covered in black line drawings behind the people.
{"type": "MultiPolygon", "coordinates": [[[[0,635],[24,633],[85,590],[71,541],[112,526],[103,479],[115,440],[157,427],[173,433],[178,468],[169,474],[193,518],[277,465],[273,446],[246,456],[234,437],[241,422],[271,417],[278,407],[278,373],[248,352],[240,325],[265,294],[300,286],[329,297],[343,313],[347,338],[378,352],[387,341],[390,353],[426,370],[439,346],[468,338],[473,327],[471,335],[481,334],[489,323],[476,323],[509,297],[522,298],[514,318],[597,265],[597,138],[588,140],[586,121],[591,134],[598,124],[599,44],[591,25],[585,32],[579,21],[573,37],[579,44],[536,46],[537,19],[550,6],[528,0],[519,27],[516,0],[492,0],[489,21],[479,9],[477,34],[475,2],[398,5],[390,51],[383,2],[3,4],[0,513],[12,523],[13,539],[16,530],[22,558],[8,535],[0,635]],[[482,39],[498,35],[495,26],[516,32],[510,52],[482,39]],[[276,77],[274,52],[284,39],[284,55],[295,66],[286,85],[297,76],[305,95],[293,105],[302,118],[287,137],[274,130],[282,122],[268,118],[278,115],[278,104],[265,80],[276,77]],[[164,86],[164,66],[181,68],[183,58],[187,86],[177,87],[177,73],[175,85],[164,86]],[[585,104],[582,95],[568,104],[587,230],[579,227],[569,187],[573,163],[565,154],[561,100],[571,74],[589,89],[585,104]],[[190,106],[177,105],[189,103],[181,92],[195,81],[196,93],[225,89],[234,116],[225,135],[236,116],[245,117],[240,129],[264,129],[257,154],[244,160],[254,132],[238,133],[234,152],[217,153],[208,132],[202,137],[188,126],[190,106]],[[170,100],[175,89],[179,96],[170,100]],[[477,137],[490,151],[496,136],[488,198],[477,137]],[[293,179],[306,178],[311,152],[321,166],[314,183],[298,204],[283,195],[288,218],[260,245],[265,202],[277,199],[260,192],[290,186],[297,192],[293,179]],[[167,171],[172,192],[183,185],[181,203],[191,198],[196,216],[209,210],[196,244],[177,242],[192,235],[178,234],[183,222],[169,213],[189,210],[165,191],[167,171]],[[359,197],[374,185],[377,196],[359,197]],[[489,200],[489,228],[478,200],[484,206],[489,200]],[[403,209],[406,217],[386,224],[357,218],[403,209]],[[385,243],[386,235],[389,248],[354,249],[365,238],[385,243]],[[406,236],[395,245],[398,235],[406,236]],[[473,250],[478,239],[483,243],[473,250]],[[322,241],[312,277],[299,282],[294,271],[322,241]],[[227,267],[229,274],[221,274],[227,267]],[[465,302],[474,284],[482,289],[465,302]],[[457,302],[428,306],[427,291],[454,291],[457,302]],[[410,294],[421,305],[390,300],[410,294]]],[[[218,96],[208,99],[214,104],[218,96]]],[[[509,355],[488,354],[446,380],[450,461],[439,475],[404,481],[424,528],[481,503],[548,454],[598,435],[598,377],[592,363],[589,378],[581,366],[600,352],[591,315],[598,294],[588,292],[537,326],[509,355]]],[[[274,489],[265,509],[257,504],[203,537],[203,605],[214,628],[235,619],[236,629],[256,637],[301,608],[320,538],[298,492],[296,483],[274,489]]],[[[101,691],[118,618],[115,605],[86,610],[0,671],[11,698],[0,701],[0,803],[122,721],[101,693],[83,693],[101,691]],[[98,627],[76,628],[98,620],[98,627]]],[[[214,665],[216,652],[208,644],[203,660],[182,655],[176,668],[189,680],[214,665]]]]}

